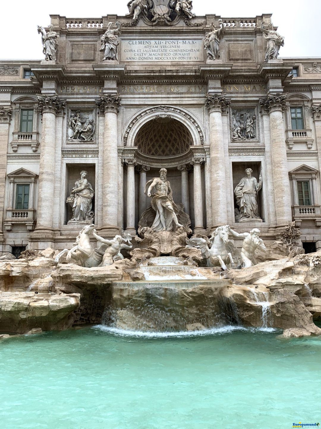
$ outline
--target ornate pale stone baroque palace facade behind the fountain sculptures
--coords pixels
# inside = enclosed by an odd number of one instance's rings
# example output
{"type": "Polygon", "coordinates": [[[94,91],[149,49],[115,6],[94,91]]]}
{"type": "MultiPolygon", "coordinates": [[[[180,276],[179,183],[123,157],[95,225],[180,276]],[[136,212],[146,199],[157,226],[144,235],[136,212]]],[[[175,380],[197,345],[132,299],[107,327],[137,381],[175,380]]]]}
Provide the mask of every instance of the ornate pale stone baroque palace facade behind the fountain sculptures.
{"type": "Polygon", "coordinates": [[[69,248],[88,223],[135,235],[160,168],[194,233],[272,243],[295,220],[321,248],[321,58],[279,58],[271,15],[167,3],[51,15],[44,60],[0,62],[2,251],[69,248]]]}

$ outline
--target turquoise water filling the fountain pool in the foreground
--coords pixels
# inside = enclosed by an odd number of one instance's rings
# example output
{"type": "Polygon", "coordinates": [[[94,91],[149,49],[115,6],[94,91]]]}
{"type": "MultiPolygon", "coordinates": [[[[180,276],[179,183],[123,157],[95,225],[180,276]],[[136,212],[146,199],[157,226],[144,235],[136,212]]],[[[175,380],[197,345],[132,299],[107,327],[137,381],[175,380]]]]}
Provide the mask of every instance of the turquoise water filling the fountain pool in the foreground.
{"type": "Polygon", "coordinates": [[[1,429],[291,428],[321,421],[321,337],[100,327],[0,344],[1,429]]]}

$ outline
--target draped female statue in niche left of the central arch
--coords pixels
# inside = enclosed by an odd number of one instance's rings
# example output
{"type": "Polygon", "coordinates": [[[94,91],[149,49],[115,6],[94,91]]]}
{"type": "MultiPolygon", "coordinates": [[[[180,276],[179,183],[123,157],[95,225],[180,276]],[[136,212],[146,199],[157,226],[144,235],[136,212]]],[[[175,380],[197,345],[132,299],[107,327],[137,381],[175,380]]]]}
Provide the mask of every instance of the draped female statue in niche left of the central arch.
{"type": "Polygon", "coordinates": [[[67,202],[73,202],[71,222],[91,222],[94,217],[92,199],[95,191],[86,179],[87,175],[86,171],[80,172],[80,179],[75,181],[70,196],[67,198],[67,202]]]}

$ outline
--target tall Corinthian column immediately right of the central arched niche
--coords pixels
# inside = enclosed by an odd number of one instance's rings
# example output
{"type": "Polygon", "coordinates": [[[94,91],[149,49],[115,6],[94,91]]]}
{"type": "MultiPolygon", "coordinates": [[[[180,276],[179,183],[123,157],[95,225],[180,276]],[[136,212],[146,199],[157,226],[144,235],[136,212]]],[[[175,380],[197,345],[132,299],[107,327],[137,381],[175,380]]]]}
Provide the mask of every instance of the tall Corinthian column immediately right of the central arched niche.
{"type": "Polygon", "coordinates": [[[230,101],[222,95],[207,96],[205,106],[210,116],[210,160],[211,160],[211,231],[220,225],[227,224],[226,178],[222,113],[230,101]]]}

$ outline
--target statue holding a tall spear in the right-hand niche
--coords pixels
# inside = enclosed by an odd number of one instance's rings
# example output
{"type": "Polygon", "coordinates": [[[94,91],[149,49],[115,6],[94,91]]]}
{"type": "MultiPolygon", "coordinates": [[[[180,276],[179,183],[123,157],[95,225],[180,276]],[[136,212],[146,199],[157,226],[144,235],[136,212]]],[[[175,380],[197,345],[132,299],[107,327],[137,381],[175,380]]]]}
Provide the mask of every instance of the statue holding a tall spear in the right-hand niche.
{"type": "Polygon", "coordinates": [[[238,221],[243,219],[258,219],[259,209],[257,204],[257,195],[262,188],[262,177],[259,175],[259,182],[252,176],[253,170],[247,168],[246,176],[243,177],[240,183],[235,187],[234,193],[238,204],[240,214],[238,221]]]}

